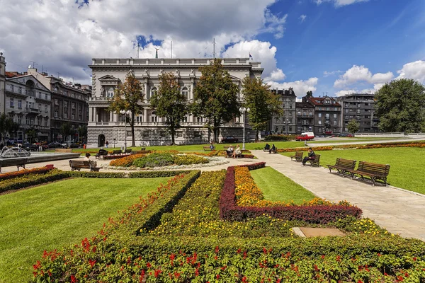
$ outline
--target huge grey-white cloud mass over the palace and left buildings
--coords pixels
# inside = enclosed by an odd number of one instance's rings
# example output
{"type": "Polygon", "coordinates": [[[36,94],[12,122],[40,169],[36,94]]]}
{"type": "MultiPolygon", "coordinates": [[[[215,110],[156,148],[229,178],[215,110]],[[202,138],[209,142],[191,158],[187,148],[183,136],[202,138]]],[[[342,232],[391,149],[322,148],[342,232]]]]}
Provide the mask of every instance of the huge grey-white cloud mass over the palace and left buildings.
{"type": "MultiPolygon", "coordinates": [[[[252,42],[259,33],[280,38],[288,15],[268,10],[276,1],[93,0],[81,7],[81,0],[1,1],[0,50],[10,71],[25,71],[33,60],[50,74],[89,83],[91,58],[135,57],[132,41],[139,35],[157,40],[160,57],[170,57],[171,40],[173,57],[212,57],[212,37],[217,56],[227,45],[252,42]]],[[[264,59],[264,73],[283,79],[276,68],[276,47],[263,43],[258,43],[263,49],[247,50],[243,57],[251,52],[254,59],[264,59]]],[[[234,49],[227,51],[223,54],[234,49]]],[[[149,42],[140,57],[154,54],[149,42]]]]}

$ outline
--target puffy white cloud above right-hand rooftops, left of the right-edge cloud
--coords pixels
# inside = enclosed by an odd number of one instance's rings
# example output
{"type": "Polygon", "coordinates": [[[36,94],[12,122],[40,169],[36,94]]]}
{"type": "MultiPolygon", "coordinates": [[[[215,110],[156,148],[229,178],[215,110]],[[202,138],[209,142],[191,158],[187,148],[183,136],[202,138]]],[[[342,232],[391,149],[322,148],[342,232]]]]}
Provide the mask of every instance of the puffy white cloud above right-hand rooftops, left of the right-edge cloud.
{"type": "Polygon", "coordinates": [[[390,81],[393,76],[394,75],[390,71],[385,74],[376,73],[372,75],[368,68],[354,65],[348,69],[344,75],[339,76],[339,79],[334,82],[334,87],[344,88],[361,81],[366,83],[386,83],[390,81]]]}

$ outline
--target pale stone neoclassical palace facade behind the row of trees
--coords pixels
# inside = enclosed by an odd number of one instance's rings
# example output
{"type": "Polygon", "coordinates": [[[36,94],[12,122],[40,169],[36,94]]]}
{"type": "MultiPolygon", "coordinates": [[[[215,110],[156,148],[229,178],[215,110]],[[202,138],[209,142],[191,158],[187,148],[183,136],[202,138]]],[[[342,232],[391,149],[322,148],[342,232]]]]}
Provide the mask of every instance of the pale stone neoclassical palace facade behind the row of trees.
{"type": "MultiPolygon", "coordinates": [[[[105,141],[111,146],[123,146],[125,138],[131,141],[131,129],[125,127],[123,115],[109,112],[109,101],[114,95],[118,83],[125,81],[129,71],[133,71],[140,80],[145,91],[145,108],[135,117],[135,145],[145,146],[152,144],[170,144],[171,136],[166,131],[164,119],[157,117],[150,108],[149,99],[152,93],[159,88],[159,75],[173,73],[179,80],[181,92],[186,94],[188,101],[193,100],[193,88],[201,74],[199,67],[210,64],[212,59],[123,59],[123,58],[95,58],[89,67],[92,70],[92,92],[89,98],[89,125],[87,146],[104,146],[105,141]],[[127,133],[125,133],[127,131],[127,133]],[[127,137],[125,137],[127,135],[127,137]]],[[[261,77],[263,69],[260,62],[252,62],[249,58],[223,58],[223,67],[232,76],[232,80],[239,86],[238,100],[243,103],[241,94],[242,79],[246,76],[261,77]]],[[[238,137],[242,141],[242,129],[245,115],[235,117],[234,120],[222,125],[220,135],[238,137]]],[[[176,136],[177,144],[198,144],[208,142],[208,129],[203,117],[188,115],[182,123],[182,128],[176,136]]],[[[249,125],[246,124],[246,138],[249,137],[249,125]]],[[[254,134],[254,132],[253,132],[254,134]]]]}

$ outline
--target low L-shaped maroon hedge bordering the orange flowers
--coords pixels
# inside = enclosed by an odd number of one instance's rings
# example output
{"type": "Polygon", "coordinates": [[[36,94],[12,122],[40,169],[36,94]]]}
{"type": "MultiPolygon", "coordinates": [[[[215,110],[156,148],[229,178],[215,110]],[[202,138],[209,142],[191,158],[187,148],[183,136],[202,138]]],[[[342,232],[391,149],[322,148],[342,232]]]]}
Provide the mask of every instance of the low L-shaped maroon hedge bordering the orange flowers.
{"type": "MultiPolygon", "coordinates": [[[[248,166],[249,167],[249,166],[248,166]]],[[[254,166],[256,167],[256,166],[254,166]]],[[[263,214],[288,221],[327,224],[346,216],[359,218],[361,209],[348,205],[312,205],[291,207],[239,207],[236,203],[234,167],[227,168],[225,185],[220,197],[220,217],[228,221],[245,221],[263,214]]]]}

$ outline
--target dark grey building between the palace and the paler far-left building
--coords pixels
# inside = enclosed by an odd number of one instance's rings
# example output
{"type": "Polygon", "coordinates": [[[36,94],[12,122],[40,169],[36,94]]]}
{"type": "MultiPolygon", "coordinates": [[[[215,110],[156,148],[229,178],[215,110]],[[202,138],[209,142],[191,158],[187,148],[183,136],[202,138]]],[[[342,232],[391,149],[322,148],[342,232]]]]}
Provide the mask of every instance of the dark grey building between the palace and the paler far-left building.
{"type": "Polygon", "coordinates": [[[79,83],[65,83],[60,78],[48,76],[46,73],[39,73],[37,69],[28,69],[28,74],[32,74],[52,93],[52,103],[50,112],[52,113],[50,123],[49,141],[64,141],[69,137],[62,137],[61,126],[68,122],[76,129],[72,141],[78,141],[77,129],[87,125],[89,120],[89,104],[87,101],[91,96],[90,86],[81,86],[79,83]]]}

